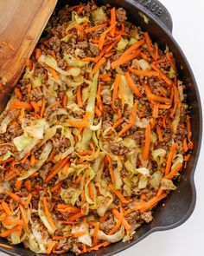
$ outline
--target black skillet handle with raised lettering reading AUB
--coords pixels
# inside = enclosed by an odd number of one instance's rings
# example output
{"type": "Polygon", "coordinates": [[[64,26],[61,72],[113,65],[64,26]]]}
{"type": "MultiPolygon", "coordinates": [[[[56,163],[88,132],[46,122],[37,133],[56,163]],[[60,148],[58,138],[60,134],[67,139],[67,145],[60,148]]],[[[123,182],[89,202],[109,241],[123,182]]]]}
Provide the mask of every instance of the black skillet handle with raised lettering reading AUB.
{"type": "Polygon", "coordinates": [[[141,7],[144,14],[147,13],[149,16],[156,18],[159,23],[163,23],[169,32],[172,33],[172,17],[169,14],[169,10],[162,3],[158,0],[134,0],[134,2],[141,7]]]}

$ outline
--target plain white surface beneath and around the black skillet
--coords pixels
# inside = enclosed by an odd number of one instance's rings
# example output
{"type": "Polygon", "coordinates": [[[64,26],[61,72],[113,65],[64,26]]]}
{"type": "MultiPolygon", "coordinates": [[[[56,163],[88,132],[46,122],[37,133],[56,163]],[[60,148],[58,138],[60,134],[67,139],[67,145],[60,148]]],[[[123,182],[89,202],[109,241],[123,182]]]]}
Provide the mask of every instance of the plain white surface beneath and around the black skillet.
{"type": "MultiPolygon", "coordinates": [[[[121,0],[122,1],[122,0],[121,0]]],[[[173,35],[188,58],[204,102],[204,1],[160,0],[173,18],[173,35]]],[[[203,144],[203,143],[202,143],[203,144]]],[[[153,233],[118,256],[204,255],[204,147],[195,172],[197,203],[190,219],[173,230],[153,233]]],[[[5,256],[0,253],[0,256],[5,256]]]]}

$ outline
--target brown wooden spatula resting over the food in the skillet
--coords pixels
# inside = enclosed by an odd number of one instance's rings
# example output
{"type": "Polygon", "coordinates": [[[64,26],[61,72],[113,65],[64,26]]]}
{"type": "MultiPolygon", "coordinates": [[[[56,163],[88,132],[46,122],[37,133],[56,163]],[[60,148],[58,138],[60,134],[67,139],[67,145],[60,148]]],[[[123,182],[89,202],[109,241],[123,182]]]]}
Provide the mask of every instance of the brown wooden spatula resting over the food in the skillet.
{"type": "Polygon", "coordinates": [[[57,0],[0,0],[0,112],[56,3],[57,0]]]}

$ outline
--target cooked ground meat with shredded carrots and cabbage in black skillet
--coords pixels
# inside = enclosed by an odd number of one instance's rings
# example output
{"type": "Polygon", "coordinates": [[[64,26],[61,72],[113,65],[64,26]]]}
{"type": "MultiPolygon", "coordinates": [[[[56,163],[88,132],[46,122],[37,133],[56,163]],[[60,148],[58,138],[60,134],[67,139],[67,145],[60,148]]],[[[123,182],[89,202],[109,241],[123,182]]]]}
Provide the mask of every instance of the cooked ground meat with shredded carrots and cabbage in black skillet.
{"type": "Polygon", "coordinates": [[[0,123],[0,237],[89,253],[152,220],[193,148],[175,59],[124,9],[51,17],[0,123]]]}

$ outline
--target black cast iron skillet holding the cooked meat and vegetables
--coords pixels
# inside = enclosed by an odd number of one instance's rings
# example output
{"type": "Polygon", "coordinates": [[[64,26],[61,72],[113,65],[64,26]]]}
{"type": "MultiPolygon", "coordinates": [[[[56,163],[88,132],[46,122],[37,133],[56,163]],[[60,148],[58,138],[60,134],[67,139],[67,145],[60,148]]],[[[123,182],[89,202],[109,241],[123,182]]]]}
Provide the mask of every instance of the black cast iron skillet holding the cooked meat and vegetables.
{"type": "MultiPolygon", "coordinates": [[[[77,4],[78,2],[79,1],[76,0],[60,0],[56,7],[56,11],[66,3],[77,4]]],[[[81,2],[86,3],[86,1],[81,2]]],[[[118,242],[105,248],[101,248],[98,252],[90,253],[90,255],[107,256],[119,253],[124,249],[135,245],[150,233],[180,226],[183,222],[188,220],[189,216],[193,213],[196,200],[194,170],[201,148],[202,115],[201,100],[194,80],[194,75],[186,57],[182,53],[182,49],[180,49],[171,35],[172,19],[169,15],[169,11],[166,10],[166,8],[157,0],[97,0],[96,2],[99,5],[103,3],[110,3],[113,6],[124,7],[124,9],[127,10],[128,18],[131,23],[140,25],[143,30],[149,31],[150,36],[159,44],[160,47],[162,47],[162,49],[165,49],[167,44],[169,49],[174,53],[176,66],[180,75],[179,78],[187,85],[188,88],[188,104],[192,107],[191,115],[194,141],[192,157],[188,162],[187,169],[182,172],[181,179],[177,184],[177,190],[170,193],[168,198],[156,207],[154,210],[153,221],[149,224],[143,224],[143,226],[137,229],[137,234],[134,235],[134,239],[131,240],[131,243],[118,242]],[[150,23],[144,23],[139,12],[143,12],[143,14],[148,16],[150,18],[150,23]],[[165,203],[165,207],[163,207],[163,203],[165,203]]],[[[5,240],[0,240],[0,242],[5,242],[5,240]]],[[[22,246],[14,246],[14,249],[12,250],[4,248],[0,248],[0,250],[10,255],[36,255],[22,246]]],[[[67,255],[72,254],[67,253],[67,255]]]]}

